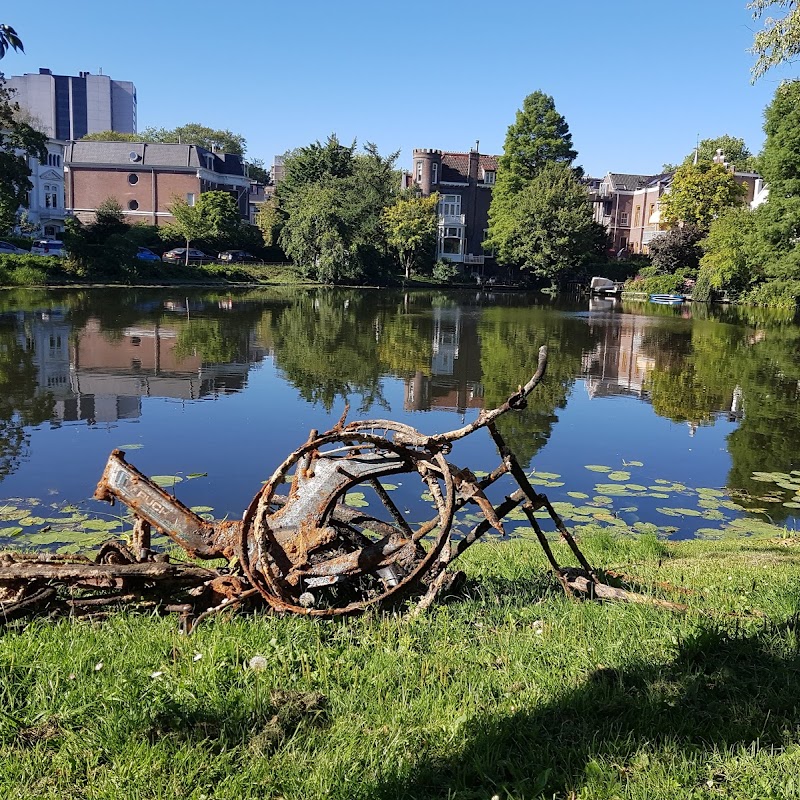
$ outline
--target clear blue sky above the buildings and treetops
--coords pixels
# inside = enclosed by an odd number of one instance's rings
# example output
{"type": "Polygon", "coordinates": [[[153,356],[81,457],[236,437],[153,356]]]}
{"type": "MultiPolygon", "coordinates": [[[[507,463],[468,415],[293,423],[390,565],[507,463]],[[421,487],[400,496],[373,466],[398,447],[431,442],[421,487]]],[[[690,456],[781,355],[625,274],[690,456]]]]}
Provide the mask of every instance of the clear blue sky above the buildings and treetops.
{"type": "Polygon", "coordinates": [[[199,122],[245,136],[248,156],[329,133],[343,141],[502,152],[523,98],[551,94],[592,175],[655,173],[695,140],[728,133],[753,152],[782,77],[755,86],[759,23],[746,0],[54,0],[6,4],[25,54],[48,67],[130,80],[139,129],[199,122]]]}

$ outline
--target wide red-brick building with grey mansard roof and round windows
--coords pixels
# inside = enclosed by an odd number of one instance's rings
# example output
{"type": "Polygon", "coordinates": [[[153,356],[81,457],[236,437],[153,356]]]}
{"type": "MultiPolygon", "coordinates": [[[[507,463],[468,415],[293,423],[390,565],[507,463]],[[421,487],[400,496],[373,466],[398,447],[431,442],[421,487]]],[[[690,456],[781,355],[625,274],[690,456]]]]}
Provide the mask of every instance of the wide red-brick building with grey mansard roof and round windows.
{"type": "Polygon", "coordinates": [[[64,154],[67,208],[92,222],[97,207],[115,198],[128,223],[173,221],[176,199],[194,205],[203,192],[229,192],[242,219],[250,217],[251,181],[239,155],[191,144],[68,142],[64,154]]]}

